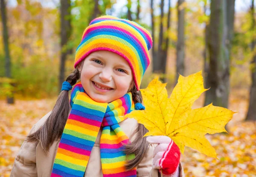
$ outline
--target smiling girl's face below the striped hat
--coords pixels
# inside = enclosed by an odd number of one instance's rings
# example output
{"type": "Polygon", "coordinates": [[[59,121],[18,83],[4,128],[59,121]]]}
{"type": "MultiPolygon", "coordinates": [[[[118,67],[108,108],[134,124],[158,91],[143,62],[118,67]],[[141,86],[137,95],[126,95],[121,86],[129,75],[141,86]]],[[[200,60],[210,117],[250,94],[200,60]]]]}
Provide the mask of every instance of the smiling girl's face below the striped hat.
{"type": "Polygon", "coordinates": [[[84,90],[96,102],[113,102],[131,89],[131,67],[116,53],[105,50],[93,52],[79,65],[79,70],[84,90]]]}

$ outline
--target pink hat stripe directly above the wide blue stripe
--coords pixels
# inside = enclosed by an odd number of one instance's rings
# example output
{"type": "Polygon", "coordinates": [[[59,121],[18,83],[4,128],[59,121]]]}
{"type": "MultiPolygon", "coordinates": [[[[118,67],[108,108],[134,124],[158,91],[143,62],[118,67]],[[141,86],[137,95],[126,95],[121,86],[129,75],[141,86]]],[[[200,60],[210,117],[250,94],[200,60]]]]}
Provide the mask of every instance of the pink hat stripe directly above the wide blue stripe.
{"type": "MultiPolygon", "coordinates": [[[[102,26],[95,26],[95,27],[92,27],[92,28],[90,28],[90,29],[88,29],[85,33],[84,33],[84,36],[83,36],[83,38],[82,38],[82,41],[83,41],[83,39],[84,39],[84,37],[89,33],[89,32],[91,32],[91,31],[93,31],[93,30],[99,30],[99,29],[101,29],[101,28],[113,28],[113,29],[118,29],[119,31],[122,31],[122,32],[124,32],[124,33],[126,33],[127,35],[129,35],[129,36],[131,36],[133,39],[135,39],[136,40],[136,42],[140,45],[140,47],[143,49],[143,53],[146,53],[146,51],[145,51],[145,48],[143,47],[143,45],[142,45],[142,43],[138,40],[138,38],[136,37],[136,36],[134,36],[133,34],[131,34],[130,32],[128,32],[128,31],[126,31],[125,29],[122,29],[122,28],[119,28],[119,27],[117,27],[117,26],[111,26],[111,25],[102,25],[102,26]]],[[[151,41],[151,40],[150,40],[151,41]]],[[[147,44],[146,44],[147,45],[147,44]]],[[[146,59],[147,59],[147,64],[149,65],[150,64],[150,60],[149,60],[149,58],[148,58],[148,56],[146,55],[146,59]]],[[[146,69],[146,68],[145,68],[146,69]]]]}

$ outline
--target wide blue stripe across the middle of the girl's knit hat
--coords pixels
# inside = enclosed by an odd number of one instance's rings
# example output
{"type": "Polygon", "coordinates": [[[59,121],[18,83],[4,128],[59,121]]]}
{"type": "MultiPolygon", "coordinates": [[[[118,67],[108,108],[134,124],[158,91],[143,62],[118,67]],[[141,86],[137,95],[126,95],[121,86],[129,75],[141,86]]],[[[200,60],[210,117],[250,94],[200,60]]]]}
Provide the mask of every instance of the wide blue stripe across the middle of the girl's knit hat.
{"type": "Polygon", "coordinates": [[[77,47],[76,50],[78,50],[79,47],[81,45],[83,45],[87,40],[89,40],[90,38],[93,38],[93,37],[95,37],[97,35],[112,35],[112,36],[116,36],[118,38],[121,38],[121,39],[127,41],[129,44],[131,44],[135,48],[135,50],[137,51],[137,53],[138,53],[138,55],[140,57],[139,62],[141,63],[141,65],[143,67],[143,72],[145,72],[145,63],[147,63],[147,60],[146,60],[145,53],[143,52],[143,50],[141,50],[141,46],[137,43],[137,41],[135,41],[133,38],[131,38],[131,36],[127,35],[124,32],[121,32],[120,30],[117,30],[117,29],[102,28],[100,32],[95,32],[95,31],[89,32],[86,35],[86,37],[83,39],[83,41],[81,41],[81,43],[79,44],[79,46],[77,47]]]}

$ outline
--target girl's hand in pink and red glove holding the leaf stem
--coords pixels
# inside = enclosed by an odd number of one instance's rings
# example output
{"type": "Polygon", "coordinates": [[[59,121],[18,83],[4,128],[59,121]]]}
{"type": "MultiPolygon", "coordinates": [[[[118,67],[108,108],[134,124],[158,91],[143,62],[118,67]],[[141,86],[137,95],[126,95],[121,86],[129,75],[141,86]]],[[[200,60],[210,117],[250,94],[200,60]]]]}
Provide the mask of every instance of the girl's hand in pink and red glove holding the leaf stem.
{"type": "MultiPolygon", "coordinates": [[[[159,169],[163,175],[178,173],[180,149],[168,136],[148,136],[147,141],[158,144],[153,153],[153,168],[159,169]]],[[[176,176],[176,175],[175,175],[176,176]]]]}

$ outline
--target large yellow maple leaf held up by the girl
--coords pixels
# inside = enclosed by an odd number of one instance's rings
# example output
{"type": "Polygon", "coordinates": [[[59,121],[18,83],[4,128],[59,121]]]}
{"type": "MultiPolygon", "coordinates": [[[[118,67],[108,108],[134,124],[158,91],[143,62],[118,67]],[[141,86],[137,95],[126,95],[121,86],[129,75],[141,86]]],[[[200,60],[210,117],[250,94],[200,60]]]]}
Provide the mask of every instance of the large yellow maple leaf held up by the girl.
{"type": "Polygon", "coordinates": [[[206,90],[201,71],[187,77],[180,75],[170,98],[166,84],[155,78],[140,90],[145,110],[134,110],[126,117],[148,129],[144,136],[169,136],[182,153],[188,146],[216,158],[215,149],[204,135],[226,132],[225,125],[235,112],[212,104],[192,110],[192,104],[206,90]]]}

